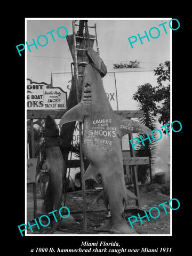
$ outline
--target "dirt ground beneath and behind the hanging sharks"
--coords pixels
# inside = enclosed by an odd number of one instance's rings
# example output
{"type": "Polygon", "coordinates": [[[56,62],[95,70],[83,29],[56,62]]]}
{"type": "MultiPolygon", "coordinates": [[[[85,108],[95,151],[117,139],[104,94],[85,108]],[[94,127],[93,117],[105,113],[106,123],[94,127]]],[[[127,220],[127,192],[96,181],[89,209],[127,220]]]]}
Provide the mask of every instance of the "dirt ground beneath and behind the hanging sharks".
{"type": "MultiPolygon", "coordinates": [[[[132,190],[132,188],[129,188],[132,190]]],[[[161,214],[157,219],[150,218],[150,221],[147,218],[143,218],[143,224],[138,221],[133,223],[134,229],[138,232],[138,234],[170,234],[170,190],[169,184],[159,185],[158,183],[154,183],[153,185],[141,185],[139,186],[140,191],[140,202],[141,209],[149,211],[151,207],[158,207],[161,211],[161,214]],[[167,202],[165,204],[167,214],[165,213],[162,206],[158,206],[158,204],[167,202]]],[[[103,225],[108,223],[110,217],[107,217],[108,211],[102,200],[99,201],[97,205],[97,197],[99,195],[99,191],[89,191],[86,193],[86,221],[87,221],[87,231],[83,231],[83,214],[78,213],[74,214],[74,211],[82,211],[83,209],[83,200],[82,200],[82,192],[76,191],[73,193],[67,194],[66,205],[71,212],[71,215],[74,218],[74,223],[69,223],[67,225],[63,225],[59,227],[53,234],[110,234],[109,231],[106,231],[104,228],[102,230],[103,225]],[[90,210],[95,210],[95,212],[89,212],[90,210]],[[104,211],[98,211],[104,210],[104,211]],[[99,230],[98,230],[99,229],[99,230]]],[[[134,205],[135,201],[131,202],[131,205],[134,205]]],[[[152,210],[151,214],[155,217],[158,215],[157,210],[152,210]]],[[[125,214],[125,219],[134,214],[125,214]]],[[[136,215],[136,214],[135,214],[136,215]]],[[[127,224],[130,225],[127,220],[127,224]]],[[[32,234],[45,234],[49,231],[51,227],[41,228],[40,230],[34,230],[32,234]]],[[[29,231],[27,232],[30,233],[29,231]]]]}

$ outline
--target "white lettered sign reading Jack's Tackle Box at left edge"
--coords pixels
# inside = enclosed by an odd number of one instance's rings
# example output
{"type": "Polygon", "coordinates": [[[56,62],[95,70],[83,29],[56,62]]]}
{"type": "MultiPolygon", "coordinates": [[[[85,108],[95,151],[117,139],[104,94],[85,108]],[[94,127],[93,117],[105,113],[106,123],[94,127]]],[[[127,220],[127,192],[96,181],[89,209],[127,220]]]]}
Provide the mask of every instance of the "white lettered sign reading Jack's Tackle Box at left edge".
{"type": "Polygon", "coordinates": [[[27,110],[67,109],[67,92],[44,84],[27,85],[27,110]]]}

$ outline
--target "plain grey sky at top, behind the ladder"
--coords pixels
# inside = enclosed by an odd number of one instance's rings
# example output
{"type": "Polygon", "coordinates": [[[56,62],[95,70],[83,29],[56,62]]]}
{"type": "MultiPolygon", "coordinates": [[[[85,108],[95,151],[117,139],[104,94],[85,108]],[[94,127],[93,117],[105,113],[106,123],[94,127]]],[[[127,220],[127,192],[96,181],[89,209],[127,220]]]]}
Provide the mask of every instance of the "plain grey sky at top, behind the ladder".
{"type": "MultiPolygon", "coordinates": [[[[86,18],[84,18],[86,19],[86,18]]],[[[37,42],[37,37],[46,35],[47,32],[53,32],[55,42],[51,34],[47,34],[48,43],[44,47],[37,44],[30,46],[31,52],[26,47],[25,54],[27,60],[26,78],[31,78],[35,82],[51,82],[51,72],[55,69],[70,71],[70,63],[73,61],[69,51],[66,38],[60,38],[57,35],[59,27],[66,27],[68,35],[73,34],[72,30],[73,19],[26,19],[26,41],[28,44],[33,44],[33,38],[37,42]]],[[[137,60],[140,62],[141,68],[156,68],[160,62],[170,60],[170,34],[172,30],[169,27],[167,19],[88,19],[88,25],[94,26],[97,22],[99,34],[99,46],[101,58],[105,62],[107,69],[113,69],[113,63],[129,62],[137,60]],[[158,26],[163,22],[167,22],[164,26],[158,26]],[[159,36],[156,27],[159,29],[159,36]],[[151,35],[149,36],[149,30],[151,35]],[[147,32],[150,42],[147,38],[143,38],[141,44],[138,34],[143,37],[147,32]],[[129,43],[128,37],[137,36],[137,42],[133,44],[133,49],[129,43]]],[[[78,23],[78,22],[77,22],[78,23]]],[[[76,27],[78,30],[78,27],[76,27]]],[[[60,29],[61,36],[65,36],[65,30],[60,29]]],[[[94,35],[92,28],[89,28],[89,33],[94,35]]],[[[131,40],[133,40],[132,38],[131,40]]],[[[40,44],[45,44],[44,37],[39,38],[40,44]]],[[[22,42],[21,42],[22,43],[22,42]]],[[[22,53],[22,52],[21,52],[22,53]]]]}

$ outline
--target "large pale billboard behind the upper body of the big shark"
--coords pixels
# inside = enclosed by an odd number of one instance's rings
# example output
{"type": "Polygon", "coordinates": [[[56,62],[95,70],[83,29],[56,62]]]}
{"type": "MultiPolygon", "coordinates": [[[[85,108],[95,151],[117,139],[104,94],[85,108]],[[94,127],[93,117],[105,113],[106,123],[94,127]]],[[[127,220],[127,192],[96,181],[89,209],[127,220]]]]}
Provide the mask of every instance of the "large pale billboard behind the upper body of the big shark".
{"type": "MultiPolygon", "coordinates": [[[[105,62],[105,61],[104,61],[105,62]]],[[[135,110],[138,102],[133,99],[138,86],[150,83],[157,84],[155,72],[151,68],[119,68],[110,69],[102,78],[103,86],[113,110],[135,110]]],[[[69,92],[71,84],[71,73],[63,70],[52,71],[53,86],[59,86],[62,90],[69,92]]]]}

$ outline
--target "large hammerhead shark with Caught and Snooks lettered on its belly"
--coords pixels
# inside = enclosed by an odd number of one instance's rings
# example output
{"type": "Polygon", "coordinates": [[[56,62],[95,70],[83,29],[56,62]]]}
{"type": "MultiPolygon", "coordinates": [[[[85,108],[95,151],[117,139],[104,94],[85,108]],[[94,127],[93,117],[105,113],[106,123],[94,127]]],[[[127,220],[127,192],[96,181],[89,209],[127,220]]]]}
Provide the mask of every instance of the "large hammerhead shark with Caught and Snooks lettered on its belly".
{"type": "Polygon", "coordinates": [[[150,129],[114,113],[102,82],[107,67],[92,47],[87,47],[85,53],[89,62],[84,70],[81,102],[62,116],[59,125],[73,121],[83,123],[82,149],[90,162],[83,181],[98,182],[98,174],[101,175],[104,202],[111,213],[109,231],[137,234],[124,217],[127,201],[137,197],[125,185],[121,139],[127,133],[146,133],[150,129]]]}

